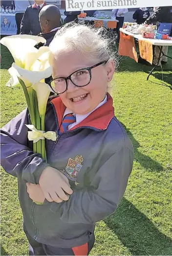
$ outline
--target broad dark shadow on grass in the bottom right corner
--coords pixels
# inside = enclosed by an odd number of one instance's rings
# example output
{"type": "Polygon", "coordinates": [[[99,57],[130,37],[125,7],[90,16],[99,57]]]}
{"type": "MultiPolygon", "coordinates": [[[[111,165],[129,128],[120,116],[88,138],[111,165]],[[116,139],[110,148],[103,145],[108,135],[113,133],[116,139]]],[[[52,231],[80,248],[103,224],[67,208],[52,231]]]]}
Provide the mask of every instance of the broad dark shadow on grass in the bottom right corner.
{"type": "Polygon", "coordinates": [[[105,223],[132,255],[172,255],[172,240],[125,198],[105,223]]]}

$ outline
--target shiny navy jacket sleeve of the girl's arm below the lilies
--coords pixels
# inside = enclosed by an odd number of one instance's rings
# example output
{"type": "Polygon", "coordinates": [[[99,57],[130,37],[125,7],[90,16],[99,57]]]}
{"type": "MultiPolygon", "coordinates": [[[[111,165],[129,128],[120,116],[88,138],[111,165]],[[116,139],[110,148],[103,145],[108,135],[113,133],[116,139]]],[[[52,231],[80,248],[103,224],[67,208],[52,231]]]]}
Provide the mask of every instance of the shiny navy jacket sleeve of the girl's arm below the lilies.
{"type": "Polygon", "coordinates": [[[40,154],[34,154],[27,146],[28,112],[11,120],[0,131],[0,156],[4,170],[30,183],[38,183],[39,178],[48,164],[40,154]]]}

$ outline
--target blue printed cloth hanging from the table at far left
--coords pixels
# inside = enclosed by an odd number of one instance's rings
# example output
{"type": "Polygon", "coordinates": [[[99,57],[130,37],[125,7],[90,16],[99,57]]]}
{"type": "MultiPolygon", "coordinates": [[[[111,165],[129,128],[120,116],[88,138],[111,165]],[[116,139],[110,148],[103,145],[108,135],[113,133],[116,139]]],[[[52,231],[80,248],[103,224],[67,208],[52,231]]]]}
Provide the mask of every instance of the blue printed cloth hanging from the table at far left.
{"type": "Polygon", "coordinates": [[[17,25],[15,14],[0,14],[0,34],[1,35],[16,35],[17,25]]]}

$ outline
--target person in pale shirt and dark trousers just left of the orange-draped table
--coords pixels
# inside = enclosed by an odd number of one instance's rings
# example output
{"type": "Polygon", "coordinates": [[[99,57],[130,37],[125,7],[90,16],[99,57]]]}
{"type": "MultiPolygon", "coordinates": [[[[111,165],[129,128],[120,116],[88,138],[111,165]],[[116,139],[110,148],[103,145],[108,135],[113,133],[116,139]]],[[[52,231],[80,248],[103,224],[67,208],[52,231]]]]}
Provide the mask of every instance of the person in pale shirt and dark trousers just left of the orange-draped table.
{"type": "Polygon", "coordinates": [[[129,11],[128,9],[113,9],[112,10],[112,17],[115,17],[116,20],[118,20],[117,26],[116,26],[116,32],[117,32],[117,35],[118,35],[117,42],[119,42],[119,38],[120,38],[120,31],[119,31],[119,29],[121,27],[123,27],[124,15],[128,11],[129,11]]]}

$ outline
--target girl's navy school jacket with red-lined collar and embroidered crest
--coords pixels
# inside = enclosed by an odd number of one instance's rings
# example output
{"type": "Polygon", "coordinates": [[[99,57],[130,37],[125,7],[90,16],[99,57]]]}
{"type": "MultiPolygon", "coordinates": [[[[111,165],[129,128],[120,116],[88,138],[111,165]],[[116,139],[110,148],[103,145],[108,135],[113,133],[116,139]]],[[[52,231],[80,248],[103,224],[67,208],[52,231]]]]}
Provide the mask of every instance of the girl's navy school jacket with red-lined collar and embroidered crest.
{"type": "Polygon", "coordinates": [[[23,110],[1,129],[1,165],[17,177],[24,226],[36,241],[71,248],[88,242],[95,222],[112,214],[122,199],[133,163],[130,139],[114,116],[112,98],[80,124],[58,135],[65,106],[60,97],[47,105],[45,130],[57,140],[46,140],[47,163],[27,141],[28,112],[23,110]],[[36,205],[26,182],[38,183],[46,166],[69,179],[73,194],[57,204],[36,205]]]}

